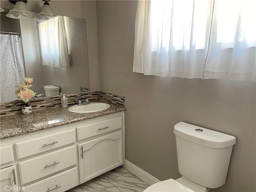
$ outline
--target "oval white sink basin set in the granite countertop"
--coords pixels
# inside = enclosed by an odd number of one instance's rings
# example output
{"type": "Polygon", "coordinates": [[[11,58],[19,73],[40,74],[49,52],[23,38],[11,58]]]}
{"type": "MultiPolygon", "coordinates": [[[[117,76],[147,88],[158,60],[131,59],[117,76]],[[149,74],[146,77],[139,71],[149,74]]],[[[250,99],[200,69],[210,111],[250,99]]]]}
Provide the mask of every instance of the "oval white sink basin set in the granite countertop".
{"type": "Polygon", "coordinates": [[[87,105],[73,105],[68,110],[73,113],[92,113],[110,108],[107,103],[90,103],[87,105]]]}

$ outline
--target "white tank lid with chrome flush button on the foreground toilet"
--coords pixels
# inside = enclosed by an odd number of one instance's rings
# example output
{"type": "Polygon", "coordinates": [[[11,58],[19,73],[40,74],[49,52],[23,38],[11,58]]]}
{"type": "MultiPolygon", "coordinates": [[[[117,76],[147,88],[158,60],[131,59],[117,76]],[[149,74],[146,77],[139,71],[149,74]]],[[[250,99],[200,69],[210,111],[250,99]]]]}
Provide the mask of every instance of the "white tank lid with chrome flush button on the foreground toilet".
{"type": "Polygon", "coordinates": [[[174,134],[188,141],[211,148],[227,148],[236,144],[234,136],[184,122],[179,122],[174,126],[174,134]]]}

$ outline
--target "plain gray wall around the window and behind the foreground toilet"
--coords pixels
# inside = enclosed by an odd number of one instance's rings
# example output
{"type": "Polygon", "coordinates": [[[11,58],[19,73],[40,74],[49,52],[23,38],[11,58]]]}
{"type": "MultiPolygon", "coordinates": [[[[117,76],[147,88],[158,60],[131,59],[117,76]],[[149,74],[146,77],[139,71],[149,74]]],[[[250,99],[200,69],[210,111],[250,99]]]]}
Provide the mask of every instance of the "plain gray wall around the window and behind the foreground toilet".
{"type": "Polygon", "coordinates": [[[96,1],[100,90],[125,96],[126,159],[160,180],[176,179],[173,126],[196,124],[237,139],[226,184],[211,191],[255,192],[255,83],[132,72],[136,8],[136,1],[96,1]]]}

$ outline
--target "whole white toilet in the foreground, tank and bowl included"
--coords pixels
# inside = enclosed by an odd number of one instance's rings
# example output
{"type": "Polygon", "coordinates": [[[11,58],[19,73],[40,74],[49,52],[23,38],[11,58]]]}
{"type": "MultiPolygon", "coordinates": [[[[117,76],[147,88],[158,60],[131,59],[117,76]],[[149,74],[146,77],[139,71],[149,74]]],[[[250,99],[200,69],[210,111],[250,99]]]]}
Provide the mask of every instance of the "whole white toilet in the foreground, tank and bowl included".
{"type": "Polygon", "coordinates": [[[222,186],[236,138],[184,122],[174,126],[174,134],[182,177],[158,182],[144,192],[208,192],[222,186]]]}

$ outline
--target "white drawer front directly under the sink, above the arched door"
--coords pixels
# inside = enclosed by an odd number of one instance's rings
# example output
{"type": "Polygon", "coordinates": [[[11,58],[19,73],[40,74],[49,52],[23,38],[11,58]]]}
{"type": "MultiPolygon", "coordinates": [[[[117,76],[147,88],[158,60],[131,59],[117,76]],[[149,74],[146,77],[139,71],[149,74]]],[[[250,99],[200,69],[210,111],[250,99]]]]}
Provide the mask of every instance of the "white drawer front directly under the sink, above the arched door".
{"type": "Polygon", "coordinates": [[[78,141],[122,128],[122,116],[77,127],[78,141]]]}

